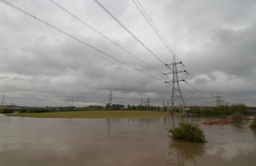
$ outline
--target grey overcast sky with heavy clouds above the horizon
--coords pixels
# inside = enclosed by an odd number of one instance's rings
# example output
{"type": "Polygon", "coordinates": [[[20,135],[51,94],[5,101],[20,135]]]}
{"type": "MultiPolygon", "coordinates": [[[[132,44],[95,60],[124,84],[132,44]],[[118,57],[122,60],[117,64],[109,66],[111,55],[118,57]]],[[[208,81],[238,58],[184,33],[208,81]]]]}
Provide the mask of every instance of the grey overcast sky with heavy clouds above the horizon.
{"type": "MultiPolygon", "coordinates": [[[[99,3],[157,58],[93,0],[54,2],[104,37],[51,1],[8,2],[35,18],[0,1],[0,99],[5,94],[5,105],[71,106],[73,99],[74,106],[106,106],[110,90],[114,104],[137,106],[148,98],[154,106],[167,104],[172,87],[161,73],[170,71],[161,61],[171,64],[172,54],[132,0],[99,3]]],[[[214,106],[216,93],[230,104],[256,106],[255,0],[139,3],[189,70],[189,76],[178,74],[188,82],[180,82],[186,106],[214,106]]]]}

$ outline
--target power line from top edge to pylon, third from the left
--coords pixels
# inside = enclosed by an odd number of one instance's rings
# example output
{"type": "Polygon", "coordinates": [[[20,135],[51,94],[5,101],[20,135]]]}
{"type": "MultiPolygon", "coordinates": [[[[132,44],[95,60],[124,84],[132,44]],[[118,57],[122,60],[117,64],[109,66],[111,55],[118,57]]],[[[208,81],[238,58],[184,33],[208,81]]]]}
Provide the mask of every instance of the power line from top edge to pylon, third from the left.
{"type": "Polygon", "coordinates": [[[165,63],[164,61],[160,60],[160,58],[159,58],[156,54],[154,54],[150,49],[148,49],[147,46],[145,46],[133,33],[131,33],[131,31],[129,31],[116,17],[114,17],[113,14],[111,14],[111,13],[108,11],[108,9],[106,9],[106,8],[102,5],[102,3],[99,3],[97,0],[94,0],[94,1],[95,1],[107,14],[109,14],[109,15],[113,18],[113,20],[115,20],[116,22],[118,22],[119,25],[122,26],[122,27],[125,29],[125,31],[127,31],[128,33],[130,33],[130,35],[131,35],[132,37],[134,37],[134,38],[137,40],[138,43],[142,44],[143,47],[144,47],[145,49],[147,49],[149,53],[153,54],[154,57],[155,57],[157,60],[159,60],[163,65],[166,65],[166,63],[165,63]]]}

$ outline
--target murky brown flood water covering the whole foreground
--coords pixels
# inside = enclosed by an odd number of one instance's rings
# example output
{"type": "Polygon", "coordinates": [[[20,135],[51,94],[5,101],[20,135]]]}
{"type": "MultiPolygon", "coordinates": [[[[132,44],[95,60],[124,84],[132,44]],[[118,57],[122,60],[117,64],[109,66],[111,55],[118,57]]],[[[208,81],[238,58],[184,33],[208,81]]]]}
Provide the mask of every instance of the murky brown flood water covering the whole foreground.
{"type": "Polygon", "coordinates": [[[256,165],[256,132],[249,123],[205,125],[218,117],[64,119],[0,115],[3,166],[256,165]],[[207,143],[173,141],[167,128],[189,121],[207,143]]]}

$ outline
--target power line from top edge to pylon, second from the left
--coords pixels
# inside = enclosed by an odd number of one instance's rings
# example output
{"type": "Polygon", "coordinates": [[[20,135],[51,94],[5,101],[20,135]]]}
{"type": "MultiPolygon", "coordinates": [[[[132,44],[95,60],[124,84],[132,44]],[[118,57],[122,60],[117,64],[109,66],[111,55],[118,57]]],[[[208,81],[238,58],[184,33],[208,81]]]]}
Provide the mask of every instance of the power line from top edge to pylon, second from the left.
{"type": "MultiPolygon", "coordinates": [[[[51,3],[54,3],[57,7],[59,7],[60,9],[64,10],[65,12],[67,12],[67,14],[72,15],[75,19],[79,20],[80,22],[82,22],[85,26],[88,26],[91,30],[96,31],[96,33],[98,33],[99,35],[101,35],[102,37],[106,38],[109,42],[113,43],[114,45],[116,45],[117,47],[119,47],[119,49],[124,50],[126,53],[131,54],[131,52],[129,52],[127,49],[124,49],[123,47],[121,47],[118,43],[113,42],[113,40],[109,39],[108,37],[106,37],[105,35],[103,35],[100,31],[97,31],[95,28],[93,28],[92,26],[88,25],[87,23],[84,22],[84,20],[79,19],[79,17],[75,16],[74,14],[72,14],[71,12],[69,12],[67,9],[64,9],[63,7],[61,7],[61,5],[59,5],[58,3],[55,3],[52,0],[49,0],[51,3]]],[[[143,64],[153,68],[155,71],[160,72],[159,70],[157,70],[156,68],[154,68],[154,66],[150,66],[148,63],[146,63],[145,61],[141,60],[140,58],[138,58],[135,54],[131,54],[132,57],[136,58],[137,60],[140,60],[141,62],[143,62],[143,64]]],[[[160,72],[162,73],[162,72],[160,72]]]]}

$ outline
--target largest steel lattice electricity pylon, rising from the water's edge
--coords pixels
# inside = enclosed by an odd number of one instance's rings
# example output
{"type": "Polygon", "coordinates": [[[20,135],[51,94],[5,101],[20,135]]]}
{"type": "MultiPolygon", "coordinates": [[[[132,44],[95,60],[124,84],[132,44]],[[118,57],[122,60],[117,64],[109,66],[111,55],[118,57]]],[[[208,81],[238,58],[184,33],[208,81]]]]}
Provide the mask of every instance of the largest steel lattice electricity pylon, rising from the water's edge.
{"type": "Polygon", "coordinates": [[[176,58],[175,58],[175,55],[173,54],[173,57],[172,57],[172,64],[169,64],[166,66],[171,69],[171,72],[167,72],[167,73],[163,73],[164,76],[168,77],[169,74],[172,74],[172,80],[169,81],[169,82],[166,82],[168,85],[172,86],[172,93],[171,93],[171,97],[170,97],[170,100],[169,100],[169,103],[168,103],[168,106],[167,106],[167,113],[166,113],[166,116],[169,114],[170,112],[170,108],[172,110],[172,114],[174,112],[174,101],[178,98],[181,102],[181,108],[182,108],[182,111],[183,111],[183,114],[185,115],[185,102],[183,100],[183,94],[180,90],[180,87],[179,87],[179,82],[185,82],[187,83],[184,79],[178,79],[177,77],[177,73],[181,73],[181,72],[185,72],[186,74],[189,74],[187,71],[177,71],[177,65],[182,65],[183,66],[183,62],[180,61],[180,62],[176,62],[176,58]],[[170,106],[170,103],[171,103],[171,106],[170,106]]]}

